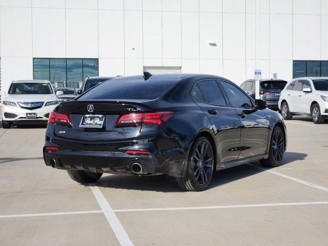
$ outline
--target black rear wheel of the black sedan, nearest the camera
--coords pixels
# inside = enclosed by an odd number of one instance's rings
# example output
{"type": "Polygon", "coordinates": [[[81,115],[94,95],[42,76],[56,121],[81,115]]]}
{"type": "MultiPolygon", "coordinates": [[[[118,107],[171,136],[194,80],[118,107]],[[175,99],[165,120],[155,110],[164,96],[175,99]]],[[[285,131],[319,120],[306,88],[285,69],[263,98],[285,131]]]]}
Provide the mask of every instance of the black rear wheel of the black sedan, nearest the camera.
{"type": "Polygon", "coordinates": [[[178,177],[177,183],[182,190],[205,190],[214,172],[214,152],[206,137],[198,137],[189,152],[185,177],[178,177]]]}

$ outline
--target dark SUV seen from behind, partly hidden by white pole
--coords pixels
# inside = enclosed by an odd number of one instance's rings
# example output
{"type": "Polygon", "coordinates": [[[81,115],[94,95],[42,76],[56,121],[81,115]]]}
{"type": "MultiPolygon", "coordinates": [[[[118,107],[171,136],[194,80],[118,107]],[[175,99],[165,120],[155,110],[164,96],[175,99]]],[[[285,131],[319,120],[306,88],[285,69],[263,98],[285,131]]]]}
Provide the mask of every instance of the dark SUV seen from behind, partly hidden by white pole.
{"type": "MultiPolygon", "coordinates": [[[[267,101],[268,108],[278,109],[280,92],[286,86],[287,81],[282,79],[261,79],[260,99],[267,101]]],[[[240,85],[248,95],[255,99],[255,80],[249,79],[240,85]]]]}

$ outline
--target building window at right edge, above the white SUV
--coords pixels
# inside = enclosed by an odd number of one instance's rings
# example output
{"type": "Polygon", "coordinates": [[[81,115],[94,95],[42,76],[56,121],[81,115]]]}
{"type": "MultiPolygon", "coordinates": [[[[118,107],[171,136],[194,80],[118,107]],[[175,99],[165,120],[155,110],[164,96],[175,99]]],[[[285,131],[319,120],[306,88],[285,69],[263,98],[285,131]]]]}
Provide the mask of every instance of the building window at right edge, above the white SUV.
{"type": "Polygon", "coordinates": [[[293,78],[328,76],[326,60],[294,60],[293,78]]]}

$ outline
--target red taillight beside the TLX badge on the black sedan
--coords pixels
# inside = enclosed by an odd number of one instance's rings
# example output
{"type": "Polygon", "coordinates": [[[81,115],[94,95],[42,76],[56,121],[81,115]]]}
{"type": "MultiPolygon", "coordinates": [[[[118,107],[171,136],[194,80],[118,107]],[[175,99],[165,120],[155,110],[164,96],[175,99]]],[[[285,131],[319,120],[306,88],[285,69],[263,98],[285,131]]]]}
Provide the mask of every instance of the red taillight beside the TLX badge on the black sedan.
{"type": "Polygon", "coordinates": [[[173,116],[173,112],[151,112],[124,114],[116,122],[117,127],[131,127],[138,125],[160,126],[173,116]]]}

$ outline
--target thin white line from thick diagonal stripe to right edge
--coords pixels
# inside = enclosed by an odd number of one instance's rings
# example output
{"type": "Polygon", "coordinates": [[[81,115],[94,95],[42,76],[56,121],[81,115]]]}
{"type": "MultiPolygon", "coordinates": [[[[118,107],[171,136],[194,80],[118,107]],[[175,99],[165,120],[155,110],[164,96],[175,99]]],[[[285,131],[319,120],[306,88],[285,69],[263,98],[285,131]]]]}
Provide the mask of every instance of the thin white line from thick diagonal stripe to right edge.
{"type": "Polygon", "coordinates": [[[178,208],[150,208],[150,209],[116,209],[117,212],[142,212],[142,211],[174,211],[174,210],[202,210],[202,209],[235,209],[235,208],[258,208],[258,207],[276,207],[276,206],[297,206],[328,204],[328,201],[310,201],[310,202],[286,202],[286,203],[262,203],[262,204],[245,204],[245,205],[228,205],[228,206],[208,206],[208,207],[178,207],[178,208]]]}

